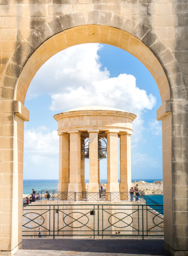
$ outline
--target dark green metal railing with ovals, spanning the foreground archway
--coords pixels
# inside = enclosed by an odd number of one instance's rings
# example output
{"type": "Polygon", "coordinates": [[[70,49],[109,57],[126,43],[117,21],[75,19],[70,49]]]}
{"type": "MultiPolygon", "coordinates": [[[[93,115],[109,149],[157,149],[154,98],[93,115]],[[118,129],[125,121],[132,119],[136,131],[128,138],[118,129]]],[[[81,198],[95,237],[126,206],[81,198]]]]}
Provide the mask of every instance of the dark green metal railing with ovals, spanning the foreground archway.
{"type": "MultiPolygon", "coordinates": [[[[162,205],[160,205],[162,206],[162,205]]],[[[23,236],[163,236],[163,215],[146,204],[31,204],[23,210],[23,236]]]]}

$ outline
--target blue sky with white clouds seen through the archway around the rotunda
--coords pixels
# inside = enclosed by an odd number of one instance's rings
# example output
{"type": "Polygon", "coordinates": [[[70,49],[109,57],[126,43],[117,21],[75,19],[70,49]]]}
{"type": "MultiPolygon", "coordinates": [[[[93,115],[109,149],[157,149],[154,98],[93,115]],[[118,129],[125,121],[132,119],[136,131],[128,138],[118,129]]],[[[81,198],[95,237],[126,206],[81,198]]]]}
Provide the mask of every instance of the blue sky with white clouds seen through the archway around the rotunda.
{"type": "MultiPolygon", "coordinates": [[[[84,105],[135,113],[132,178],[162,179],[159,90],[148,69],[128,52],[107,44],[82,44],[57,53],[33,77],[25,105],[30,121],[25,122],[24,179],[33,170],[36,179],[58,179],[59,137],[53,115],[84,105]]],[[[100,166],[105,179],[106,161],[100,166]]]]}

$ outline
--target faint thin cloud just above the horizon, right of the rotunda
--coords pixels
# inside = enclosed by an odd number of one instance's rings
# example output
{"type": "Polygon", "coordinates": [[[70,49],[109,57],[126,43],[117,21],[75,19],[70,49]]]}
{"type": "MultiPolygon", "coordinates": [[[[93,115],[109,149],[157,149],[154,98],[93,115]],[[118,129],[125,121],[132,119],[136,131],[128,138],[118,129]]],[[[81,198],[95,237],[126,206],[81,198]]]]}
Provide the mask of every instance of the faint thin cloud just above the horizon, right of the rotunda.
{"type": "Polygon", "coordinates": [[[132,154],[131,163],[132,165],[140,166],[140,167],[147,166],[147,168],[149,167],[157,168],[161,166],[161,164],[156,159],[149,157],[146,154],[140,154],[140,153],[132,154]]]}

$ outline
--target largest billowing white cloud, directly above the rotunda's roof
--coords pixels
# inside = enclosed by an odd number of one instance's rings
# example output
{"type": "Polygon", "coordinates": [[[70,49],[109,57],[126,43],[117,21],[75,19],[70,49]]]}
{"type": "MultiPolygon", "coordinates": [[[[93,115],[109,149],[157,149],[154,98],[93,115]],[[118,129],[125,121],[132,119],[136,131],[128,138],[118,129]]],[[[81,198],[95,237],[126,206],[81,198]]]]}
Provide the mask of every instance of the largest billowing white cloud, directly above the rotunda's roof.
{"type": "Polygon", "coordinates": [[[27,99],[42,93],[52,99],[50,109],[62,112],[86,105],[104,105],[133,112],[132,142],[142,138],[143,113],[152,109],[156,97],[147,95],[136,86],[130,74],[110,77],[97,54],[101,44],[81,44],[59,52],[50,58],[34,76],[27,92],[27,99]]]}

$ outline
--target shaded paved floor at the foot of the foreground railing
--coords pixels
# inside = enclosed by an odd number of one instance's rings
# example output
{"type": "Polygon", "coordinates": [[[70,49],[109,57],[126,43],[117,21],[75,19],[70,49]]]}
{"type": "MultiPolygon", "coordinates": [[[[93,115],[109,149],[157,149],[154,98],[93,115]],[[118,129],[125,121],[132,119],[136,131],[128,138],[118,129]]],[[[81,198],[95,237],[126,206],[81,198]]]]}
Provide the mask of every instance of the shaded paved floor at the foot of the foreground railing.
{"type": "Polygon", "coordinates": [[[23,239],[15,256],[167,256],[162,239],[23,239]]]}

